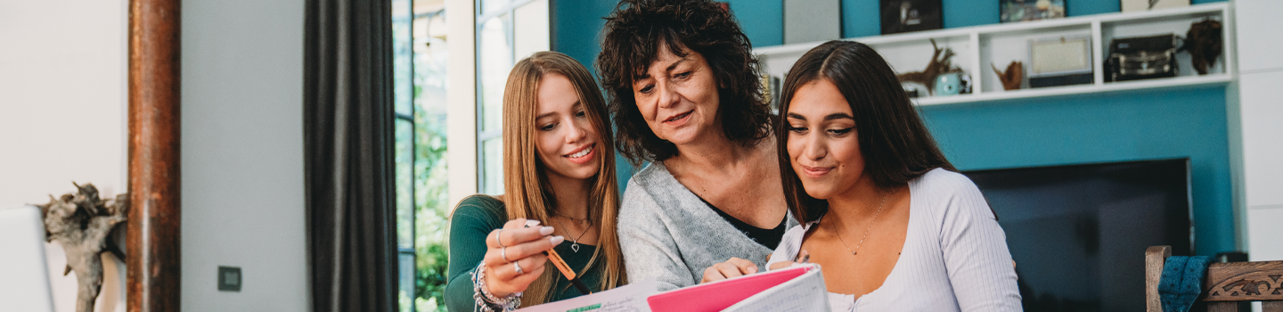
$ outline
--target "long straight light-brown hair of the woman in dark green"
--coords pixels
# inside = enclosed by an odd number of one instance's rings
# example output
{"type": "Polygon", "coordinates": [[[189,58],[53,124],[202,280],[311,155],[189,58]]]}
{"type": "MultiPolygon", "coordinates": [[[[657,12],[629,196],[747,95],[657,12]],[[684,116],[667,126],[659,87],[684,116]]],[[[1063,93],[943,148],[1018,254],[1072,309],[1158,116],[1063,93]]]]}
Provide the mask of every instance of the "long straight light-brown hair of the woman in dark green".
{"type": "MultiPolygon", "coordinates": [[[[615,139],[606,119],[606,101],[588,68],[566,54],[540,51],[517,62],[508,74],[503,92],[503,202],[508,218],[539,220],[549,222],[549,212],[556,208],[552,186],[545,176],[547,167],[538,155],[535,116],[539,109],[539,83],[549,73],[566,76],[584,108],[593,128],[600,136],[600,168],[589,178],[588,218],[597,225],[597,250],[579,273],[593,266],[604,266],[600,289],[607,290],[627,284],[624,272],[624,253],[615,229],[618,223],[620,190],[615,177],[615,139]],[[600,258],[602,263],[598,263],[600,258]]],[[[553,281],[559,276],[556,268],[547,268],[526,288],[522,306],[548,302],[553,294],[553,281]]]]}

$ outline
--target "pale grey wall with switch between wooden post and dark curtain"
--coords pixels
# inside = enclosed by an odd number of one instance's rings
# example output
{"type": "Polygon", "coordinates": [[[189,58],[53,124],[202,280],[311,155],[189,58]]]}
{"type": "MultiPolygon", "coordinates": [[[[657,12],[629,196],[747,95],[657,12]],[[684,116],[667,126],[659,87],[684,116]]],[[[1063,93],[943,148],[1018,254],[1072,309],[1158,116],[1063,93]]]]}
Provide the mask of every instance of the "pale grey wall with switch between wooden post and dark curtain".
{"type": "Polygon", "coordinates": [[[302,0],[182,1],[182,311],[308,311],[302,0]],[[241,268],[240,293],[217,267],[241,268]]]}

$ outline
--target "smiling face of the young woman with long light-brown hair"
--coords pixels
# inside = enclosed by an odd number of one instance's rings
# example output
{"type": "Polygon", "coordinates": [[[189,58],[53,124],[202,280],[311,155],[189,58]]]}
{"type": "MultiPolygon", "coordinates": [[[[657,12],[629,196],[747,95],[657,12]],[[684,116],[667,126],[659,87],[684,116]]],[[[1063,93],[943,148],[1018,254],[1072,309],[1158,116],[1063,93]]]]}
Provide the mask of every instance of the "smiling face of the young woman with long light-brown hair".
{"type": "Polygon", "coordinates": [[[548,175],[570,178],[597,175],[602,163],[600,136],[570,80],[558,73],[544,74],[538,105],[535,137],[548,175]]]}

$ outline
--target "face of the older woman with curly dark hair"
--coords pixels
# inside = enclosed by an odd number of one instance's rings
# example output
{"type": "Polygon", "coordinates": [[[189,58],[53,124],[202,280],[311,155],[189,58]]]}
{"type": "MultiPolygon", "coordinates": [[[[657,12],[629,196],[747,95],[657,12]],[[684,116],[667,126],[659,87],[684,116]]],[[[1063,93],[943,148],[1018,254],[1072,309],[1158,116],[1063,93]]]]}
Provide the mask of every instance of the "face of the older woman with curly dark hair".
{"type": "Polygon", "coordinates": [[[676,145],[720,134],[717,80],[708,60],[683,48],[685,58],[659,45],[654,63],[633,81],[638,110],[659,139],[676,145]]]}

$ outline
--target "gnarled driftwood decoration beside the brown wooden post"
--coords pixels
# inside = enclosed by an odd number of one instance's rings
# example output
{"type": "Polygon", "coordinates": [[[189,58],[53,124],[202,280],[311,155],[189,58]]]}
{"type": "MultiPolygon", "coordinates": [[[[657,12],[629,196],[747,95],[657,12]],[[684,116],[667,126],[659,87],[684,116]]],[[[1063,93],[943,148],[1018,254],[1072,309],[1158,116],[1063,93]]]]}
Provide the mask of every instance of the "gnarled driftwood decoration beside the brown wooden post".
{"type": "Polygon", "coordinates": [[[128,209],[128,195],[104,200],[92,184],[76,185],[76,194],[64,194],[49,203],[38,205],[45,217],[45,232],[49,241],[58,241],[67,252],[67,270],[63,275],[76,271],[76,312],[92,312],[94,300],[103,289],[103,252],[110,252],[124,259],[124,252],[108,236],[115,225],[124,222],[128,209]]]}

